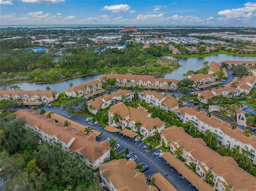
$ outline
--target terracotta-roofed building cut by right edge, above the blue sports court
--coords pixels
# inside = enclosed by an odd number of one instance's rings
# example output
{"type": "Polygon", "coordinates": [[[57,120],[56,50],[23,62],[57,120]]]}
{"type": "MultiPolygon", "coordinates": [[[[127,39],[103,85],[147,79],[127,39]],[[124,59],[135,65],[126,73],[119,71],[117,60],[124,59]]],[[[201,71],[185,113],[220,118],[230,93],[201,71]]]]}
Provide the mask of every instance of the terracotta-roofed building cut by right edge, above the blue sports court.
{"type": "Polygon", "coordinates": [[[252,88],[256,84],[256,76],[243,76],[242,79],[238,80],[236,83],[237,89],[245,92],[246,94],[250,93],[252,88]]]}

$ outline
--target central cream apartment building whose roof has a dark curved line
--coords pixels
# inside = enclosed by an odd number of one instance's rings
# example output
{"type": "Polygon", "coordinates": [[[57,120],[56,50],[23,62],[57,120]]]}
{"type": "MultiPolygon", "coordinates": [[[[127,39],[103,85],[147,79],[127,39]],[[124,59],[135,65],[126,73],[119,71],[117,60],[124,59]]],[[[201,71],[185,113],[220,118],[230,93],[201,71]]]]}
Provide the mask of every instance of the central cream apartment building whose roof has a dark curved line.
{"type": "Polygon", "coordinates": [[[164,130],[165,122],[159,118],[151,118],[151,113],[145,112],[142,108],[133,108],[125,104],[118,103],[108,110],[108,119],[110,126],[122,126],[130,128],[134,132],[140,132],[143,136],[153,136],[154,132],[164,130]],[[116,124],[113,117],[117,113],[121,116],[119,124],[116,124]],[[136,122],[140,122],[140,127],[136,128],[136,122]]]}

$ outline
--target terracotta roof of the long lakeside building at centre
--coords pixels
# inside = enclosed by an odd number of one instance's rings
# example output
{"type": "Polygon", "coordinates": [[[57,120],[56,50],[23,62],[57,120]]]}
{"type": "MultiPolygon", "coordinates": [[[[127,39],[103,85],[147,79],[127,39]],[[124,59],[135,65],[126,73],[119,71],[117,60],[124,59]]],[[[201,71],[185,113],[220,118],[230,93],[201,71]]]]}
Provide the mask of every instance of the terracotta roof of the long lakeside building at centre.
{"type": "Polygon", "coordinates": [[[151,82],[151,83],[155,83],[155,82],[159,82],[159,83],[168,83],[169,81],[174,83],[174,84],[178,84],[178,80],[176,79],[164,79],[164,78],[154,78],[153,76],[147,76],[147,75],[126,75],[126,74],[107,74],[107,75],[103,75],[100,76],[98,79],[102,79],[103,77],[107,77],[107,78],[116,78],[118,80],[124,81],[124,80],[134,80],[134,81],[143,81],[143,82],[151,82]]]}

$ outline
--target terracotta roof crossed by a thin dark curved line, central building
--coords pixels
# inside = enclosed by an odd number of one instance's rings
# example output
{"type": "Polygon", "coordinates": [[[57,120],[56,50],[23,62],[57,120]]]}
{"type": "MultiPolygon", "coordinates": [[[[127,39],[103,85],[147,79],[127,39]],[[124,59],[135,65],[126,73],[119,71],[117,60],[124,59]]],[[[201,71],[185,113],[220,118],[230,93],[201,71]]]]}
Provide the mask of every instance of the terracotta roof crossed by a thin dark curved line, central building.
{"type": "Polygon", "coordinates": [[[154,126],[158,126],[158,128],[160,128],[165,124],[165,122],[151,118],[151,114],[143,111],[141,108],[127,107],[122,102],[112,106],[108,112],[112,114],[116,112],[122,118],[129,117],[130,122],[141,122],[141,127],[144,127],[147,130],[153,129],[154,126]]]}

